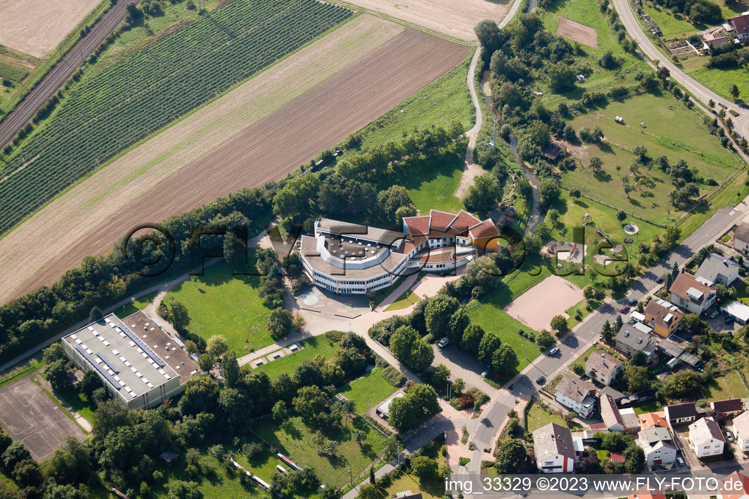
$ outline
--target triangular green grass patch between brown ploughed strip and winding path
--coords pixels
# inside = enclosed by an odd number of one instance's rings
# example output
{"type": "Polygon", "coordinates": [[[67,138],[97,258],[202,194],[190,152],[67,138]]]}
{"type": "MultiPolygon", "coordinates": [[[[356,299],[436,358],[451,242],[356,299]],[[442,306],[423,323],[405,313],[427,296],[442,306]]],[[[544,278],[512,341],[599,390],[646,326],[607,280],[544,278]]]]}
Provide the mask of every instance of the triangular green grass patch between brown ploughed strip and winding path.
{"type": "Polygon", "coordinates": [[[455,69],[360,129],[357,133],[362,142],[356,149],[400,141],[405,133],[413,132],[414,127],[449,126],[452,120],[460,120],[465,129],[470,129],[476,122],[466,82],[470,59],[466,58],[455,69]]]}

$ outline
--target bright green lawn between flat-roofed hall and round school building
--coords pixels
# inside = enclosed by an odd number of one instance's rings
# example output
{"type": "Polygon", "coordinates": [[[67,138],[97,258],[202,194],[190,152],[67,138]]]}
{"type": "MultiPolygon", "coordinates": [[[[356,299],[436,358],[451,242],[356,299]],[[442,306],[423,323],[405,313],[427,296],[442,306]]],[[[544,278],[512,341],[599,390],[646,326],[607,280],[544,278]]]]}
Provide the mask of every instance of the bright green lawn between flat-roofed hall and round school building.
{"type": "MultiPolygon", "coordinates": [[[[255,269],[255,251],[249,254],[249,269],[255,269]]],[[[164,303],[169,307],[172,299],[181,301],[189,313],[190,332],[205,340],[223,334],[229,349],[240,357],[274,341],[266,327],[270,310],[258,296],[260,276],[234,272],[240,271],[225,262],[206,267],[204,275],[194,276],[167,293],[164,303]]]]}

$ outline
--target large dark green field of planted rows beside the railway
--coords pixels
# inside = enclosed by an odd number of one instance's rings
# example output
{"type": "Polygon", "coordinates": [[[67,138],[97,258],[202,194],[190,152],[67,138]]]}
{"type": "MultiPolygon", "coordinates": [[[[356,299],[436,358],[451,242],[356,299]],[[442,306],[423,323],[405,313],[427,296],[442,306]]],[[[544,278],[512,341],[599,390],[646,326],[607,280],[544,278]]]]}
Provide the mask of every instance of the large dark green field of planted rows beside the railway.
{"type": "Polygon", "coordinates": [[[0,171],[0,231],[130,144],[350,15],[315,0],[235,0],[82,82],[7,158],[0,171]]]}

